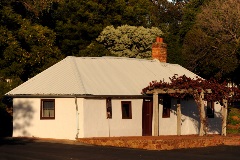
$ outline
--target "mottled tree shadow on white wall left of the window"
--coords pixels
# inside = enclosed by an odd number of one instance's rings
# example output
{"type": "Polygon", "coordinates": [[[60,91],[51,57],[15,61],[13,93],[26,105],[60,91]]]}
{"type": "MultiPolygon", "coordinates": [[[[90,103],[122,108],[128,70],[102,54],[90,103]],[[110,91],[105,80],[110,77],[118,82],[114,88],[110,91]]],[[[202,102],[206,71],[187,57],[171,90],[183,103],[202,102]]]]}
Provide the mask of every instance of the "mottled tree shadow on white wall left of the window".
{"type": "Polygon", "coordinates": [[[30,136],[28,128],[31,126],[34,110],[30,101],[19,102],[13,107],[14,136],[30,136]]]}

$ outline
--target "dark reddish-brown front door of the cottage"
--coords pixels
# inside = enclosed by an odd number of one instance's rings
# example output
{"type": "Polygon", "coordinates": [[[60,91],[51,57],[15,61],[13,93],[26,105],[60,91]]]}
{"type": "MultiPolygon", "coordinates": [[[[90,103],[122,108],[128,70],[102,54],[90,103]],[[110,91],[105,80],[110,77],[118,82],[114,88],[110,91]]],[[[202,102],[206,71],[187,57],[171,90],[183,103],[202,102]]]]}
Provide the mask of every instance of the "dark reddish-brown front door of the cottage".
{"type": "Polygon", "coordinates": [[[142,135],[152,136],[152,115],[153,115],[153,100],[143,99],[142,108],[142,135]]]}

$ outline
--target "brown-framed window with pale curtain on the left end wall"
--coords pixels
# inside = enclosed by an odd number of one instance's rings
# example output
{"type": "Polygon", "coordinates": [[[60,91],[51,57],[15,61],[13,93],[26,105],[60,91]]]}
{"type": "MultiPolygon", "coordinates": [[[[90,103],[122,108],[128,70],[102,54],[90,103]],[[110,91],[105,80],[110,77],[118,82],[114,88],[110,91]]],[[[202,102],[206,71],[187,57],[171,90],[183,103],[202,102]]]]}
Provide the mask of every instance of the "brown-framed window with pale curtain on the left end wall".
{"type": "Polygon", "coordinates": [[[55,100],[42,99],[40,119],[55,119],[55,100]]]}

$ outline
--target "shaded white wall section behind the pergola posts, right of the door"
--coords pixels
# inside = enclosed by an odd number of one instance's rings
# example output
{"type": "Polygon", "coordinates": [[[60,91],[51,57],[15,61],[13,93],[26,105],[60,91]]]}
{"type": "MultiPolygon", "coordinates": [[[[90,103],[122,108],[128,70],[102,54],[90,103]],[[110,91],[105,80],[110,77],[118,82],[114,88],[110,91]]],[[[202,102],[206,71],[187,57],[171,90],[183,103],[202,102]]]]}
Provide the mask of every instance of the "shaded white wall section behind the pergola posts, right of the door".
{"type": "MultiPolygon", "coordinates": [[[[204,103],[205,106],[207,102],[204,103]]],[[[177,135],[177,100],[171,101],[170,118],[162,118],[162,104],[159,104],[159,135],[177,135]]],[[[221,106],[215,103],[214,118],[207,118],[207,134],[221,133],[221,106]]],[[[199,134],[199,111],[193,99],[181,100],[181,135],[199,134]]]]}

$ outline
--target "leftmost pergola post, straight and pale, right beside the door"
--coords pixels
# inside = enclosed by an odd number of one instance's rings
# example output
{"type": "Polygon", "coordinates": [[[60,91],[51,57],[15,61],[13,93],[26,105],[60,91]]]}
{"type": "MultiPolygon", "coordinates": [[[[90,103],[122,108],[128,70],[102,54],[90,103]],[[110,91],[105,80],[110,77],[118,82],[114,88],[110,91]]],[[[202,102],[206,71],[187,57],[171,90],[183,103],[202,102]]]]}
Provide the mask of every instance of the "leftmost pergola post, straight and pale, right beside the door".
{"type": "Polygon", "coordinates": [[[159,130],[158,93],[153,93],[153,136],[158,136],[159,130]]]}

